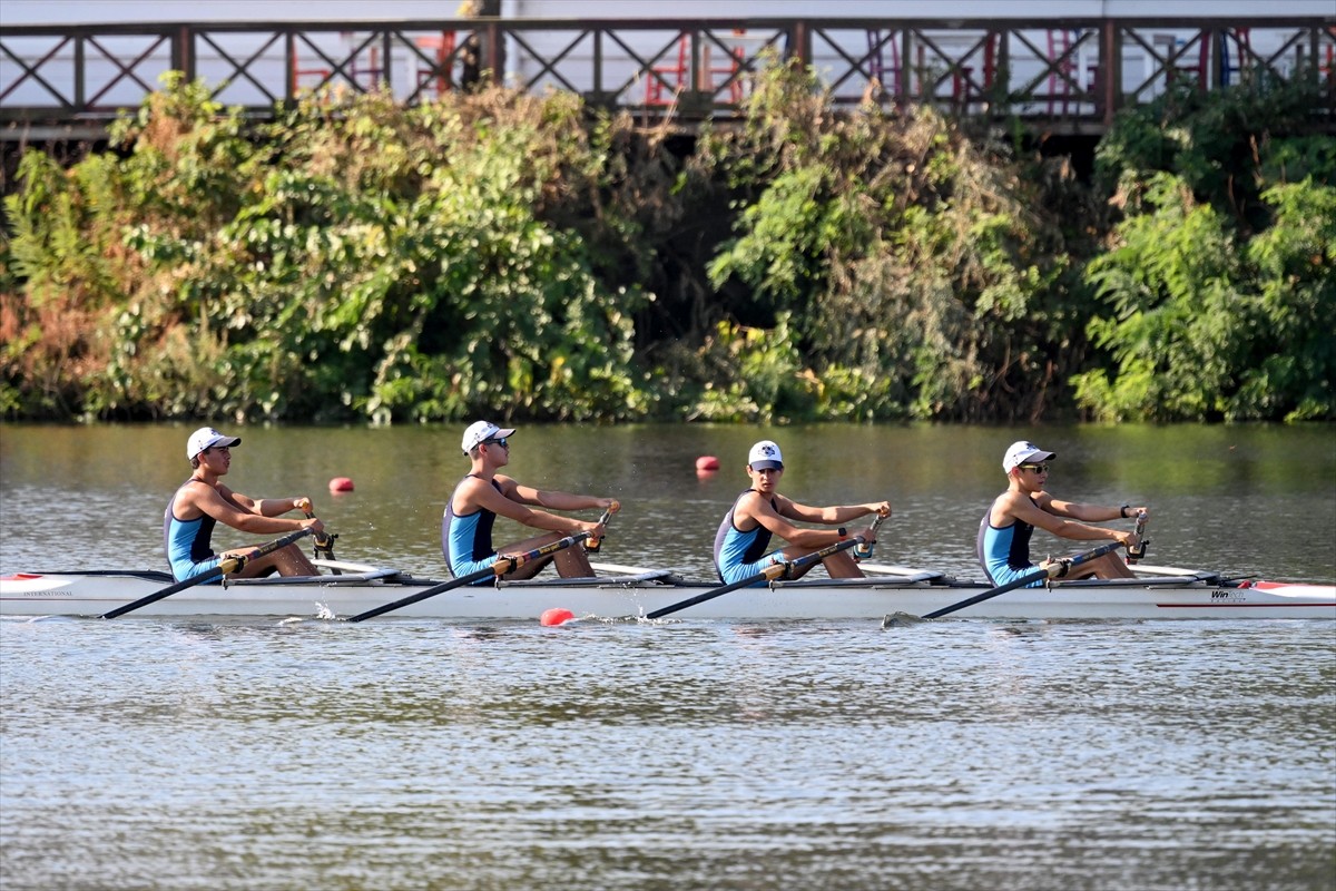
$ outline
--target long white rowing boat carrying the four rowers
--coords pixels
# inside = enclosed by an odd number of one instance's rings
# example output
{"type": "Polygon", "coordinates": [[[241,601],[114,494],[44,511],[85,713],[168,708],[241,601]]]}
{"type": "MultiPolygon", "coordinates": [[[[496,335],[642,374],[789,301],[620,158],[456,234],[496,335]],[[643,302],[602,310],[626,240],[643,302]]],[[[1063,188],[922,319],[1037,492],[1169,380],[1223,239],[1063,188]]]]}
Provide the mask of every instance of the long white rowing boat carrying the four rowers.
{"type": "MultiPolygon", "coordinates": [[[[238,578],[158,600],[134,616],[298,616],[347,618],[440,584],[397,569],[317,561],[319,576],[238,578]]],[[[597,564],[589,578],[494,581],[457,588],[385,616],[448,620],[537,620],[550,608],[577,617],[636,618],[708,592],[717,582],[671,569],[597,564]]],[[[851,620],[925,616],[991,586],[927,569],[868,565],[868,578],[778,581],[683,609],[672,621],[851,620]]],[[[1336,618],[1336,585],[1230,580],[1210,572],[1138,566],[1128,580],[1081,580],[1023,588],[967,606],[950,618],[1336,618]]],[[[0,577],[0,614],[102,616],[172,584],[152,570],[29,572],[0,577]]]]}

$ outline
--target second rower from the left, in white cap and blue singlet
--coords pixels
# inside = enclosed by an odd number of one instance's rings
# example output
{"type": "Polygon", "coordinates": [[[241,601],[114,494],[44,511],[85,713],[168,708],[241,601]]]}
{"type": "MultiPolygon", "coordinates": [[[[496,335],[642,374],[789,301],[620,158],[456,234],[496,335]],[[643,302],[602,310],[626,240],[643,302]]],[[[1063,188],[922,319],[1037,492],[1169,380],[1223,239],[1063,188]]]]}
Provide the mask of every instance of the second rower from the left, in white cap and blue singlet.
{"type": "MultiPolygon", "coordinates": [[[[490,421],[477,421],[464,431],[460,446],[473,462],[473,469],[450,493],[441,520],[441,550],[456,578],[493,565],[498,550],[508,554],[524,553],[580,532],[591,533],[595,540],[601,540],[604,536],[604,526],[599,521],[562,517],[548,510],[534,510],[534,506],[549,510],[601,508],[613,513],[621,509],[616,498],[545,492],[520,485],[512,477],[497,473],[510,462],[513,435],[513,429],[498,427],[490,421]],[[548,532],[497,549],[492,546],[492,525],[497,516],[548,532]]],[[[564,578],[593,576],[589,556],[577,545],[526,561],[508,572],[505,577],[532,578],[549,562],[556,562],[557,573],[564,578]]],[[[488,581],[490,580],[478,584],[488,581]]]]}

